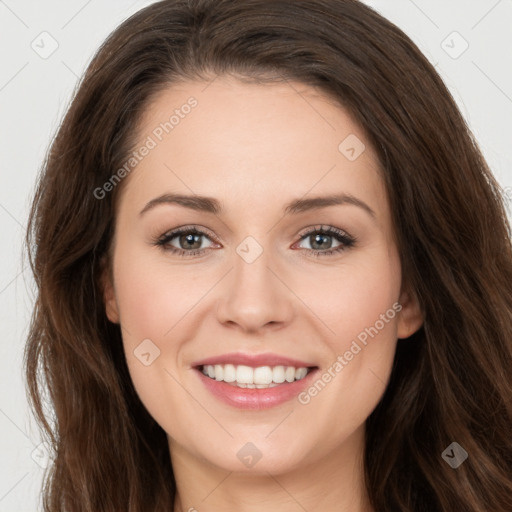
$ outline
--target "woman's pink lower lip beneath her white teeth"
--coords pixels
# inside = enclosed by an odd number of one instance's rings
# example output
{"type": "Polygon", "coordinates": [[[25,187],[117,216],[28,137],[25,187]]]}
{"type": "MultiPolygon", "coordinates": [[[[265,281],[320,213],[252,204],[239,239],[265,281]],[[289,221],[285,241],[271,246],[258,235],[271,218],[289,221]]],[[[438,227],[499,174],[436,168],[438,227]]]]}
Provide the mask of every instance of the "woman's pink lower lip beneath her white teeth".
{"type": "Polygon", "coordinates": [[[206,388],[219,400],[239,409],[270,409],[292,400],[310,385],[317,372],[311,370],[303,379],[285,382],[279,386],[263,389],[239,388],[224,381],[211,379],[198,369],[199,378],[206,388]]]}

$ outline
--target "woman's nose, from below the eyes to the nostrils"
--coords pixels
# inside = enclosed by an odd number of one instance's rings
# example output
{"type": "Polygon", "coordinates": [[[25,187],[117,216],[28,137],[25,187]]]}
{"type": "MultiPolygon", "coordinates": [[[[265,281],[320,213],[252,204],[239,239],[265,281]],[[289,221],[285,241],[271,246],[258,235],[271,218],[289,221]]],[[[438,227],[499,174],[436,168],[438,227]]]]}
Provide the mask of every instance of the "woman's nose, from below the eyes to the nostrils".
{"type": "Polygon", "coordinates": [[[245,333],[280,329],[293,316],[293,293],[280,275],[270,250],[252,261],[238,253],[223,280],[216,314],[220,323],[245,333]]]}

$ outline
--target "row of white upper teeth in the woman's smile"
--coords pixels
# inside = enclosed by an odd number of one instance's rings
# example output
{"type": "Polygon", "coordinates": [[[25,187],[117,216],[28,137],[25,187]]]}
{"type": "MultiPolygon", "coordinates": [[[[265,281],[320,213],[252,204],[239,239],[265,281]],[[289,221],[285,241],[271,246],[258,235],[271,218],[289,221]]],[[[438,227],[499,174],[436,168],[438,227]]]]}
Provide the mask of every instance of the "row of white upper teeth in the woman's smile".
{"type": "Polygon", "coordinates": [[[294,382],[308,374],[307,368],[293,366],[251,366],[233,364],[216,364],[203,366],[202,372],[211,379],[224,381],[240,388],[272,388],[283,382],[294,382]]]}

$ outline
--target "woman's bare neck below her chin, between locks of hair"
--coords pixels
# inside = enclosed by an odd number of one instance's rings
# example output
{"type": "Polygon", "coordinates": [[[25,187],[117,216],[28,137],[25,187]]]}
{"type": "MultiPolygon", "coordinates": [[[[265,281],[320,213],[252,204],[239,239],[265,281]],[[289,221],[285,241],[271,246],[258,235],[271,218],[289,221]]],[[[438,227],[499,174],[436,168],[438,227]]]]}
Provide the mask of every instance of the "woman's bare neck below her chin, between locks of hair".
{"type": "Polygon", "coordinates": [[[176,480],[174,512],[323,510],[374,512],[364,486],[364,426],[345,442],[275,474],[257,466],[227,471],[169,441],[176,480]]]}

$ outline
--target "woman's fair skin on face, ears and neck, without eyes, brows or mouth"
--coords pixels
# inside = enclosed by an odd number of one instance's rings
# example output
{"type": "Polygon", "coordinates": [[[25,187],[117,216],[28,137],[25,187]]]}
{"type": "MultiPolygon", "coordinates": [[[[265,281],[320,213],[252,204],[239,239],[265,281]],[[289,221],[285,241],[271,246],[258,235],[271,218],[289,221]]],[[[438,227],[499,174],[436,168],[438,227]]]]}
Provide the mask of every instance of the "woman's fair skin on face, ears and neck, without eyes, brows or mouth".
{"type": "MultiPolygon", "coordinates": [[[[365,420],[385,390],[397,338],[422,323],[402,283],[376,154],[346,111],[316,89],[227,77],[159,93],[136,146],[190,96],[197,107],[122,183],[113,280],[104,276],[107,315],[122,326],[135,388],[168,435],[175,510],[372,511],[362,480],[365,420]],[[354,161],[338,150],[350,134],[366,146],[354,161]],[[163,204],[139,214],[164,192],[214,197],[223,211],[163,204]],[[332,193],[357,197],[375,216],[353,204],[283,215],[293,199],[332,193]],[[153,244],[191,224],[217,239],[200,238],[202,254],[153,244]],[[301,234],[319,225],[357,241],[315,257],[314,236],[301,234]],[[263,249],[250,264],[236,252],[247,236],[263,249]],[[191,367],[229,352],[273,352],[327,371],[397,302],[402,310],[305,405],[240,410],[213,397],[191,367]],[[145,339],[160,350],[148,366],[134,355],[145,339]],[[248,442],[261,454],[251,468],[237,457],[248,442]]],[[[340,242],[324,244],[319,250],[340,242]]],[[[191,250],[179,236],[172,245],[191,250]]]]}

